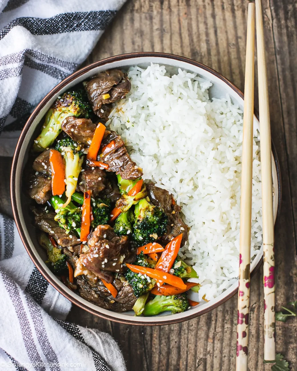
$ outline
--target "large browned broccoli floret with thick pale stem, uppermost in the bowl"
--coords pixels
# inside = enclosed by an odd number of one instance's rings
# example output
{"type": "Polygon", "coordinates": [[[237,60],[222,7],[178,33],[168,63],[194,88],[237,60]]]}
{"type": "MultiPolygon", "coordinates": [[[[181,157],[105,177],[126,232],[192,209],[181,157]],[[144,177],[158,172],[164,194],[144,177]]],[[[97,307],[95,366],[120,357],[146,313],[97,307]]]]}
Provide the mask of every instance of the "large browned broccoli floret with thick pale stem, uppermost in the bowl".
{"type": "Polygon", "coordinates": [[[49,109],[40,135],[35,139],[33,150],[42,152],[50,147],[61,132],[63,120],[68,116],[92,117],[93,111],[83,89],[68,91],[58,98],[49,109]]]}

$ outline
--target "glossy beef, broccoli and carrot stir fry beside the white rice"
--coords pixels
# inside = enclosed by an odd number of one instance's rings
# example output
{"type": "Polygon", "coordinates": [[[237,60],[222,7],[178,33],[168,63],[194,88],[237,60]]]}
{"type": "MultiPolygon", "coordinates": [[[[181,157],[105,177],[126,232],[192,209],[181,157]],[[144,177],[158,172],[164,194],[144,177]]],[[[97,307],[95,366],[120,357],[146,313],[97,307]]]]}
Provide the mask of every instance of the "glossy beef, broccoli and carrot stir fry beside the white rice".
{"type": "Polygon", "coordinates": [[[104,125],[130,89],[114,69],[59,96],[34,141],[26,192],[46,264],[69,289],[112,311],[179,313],[197,304],[187,290],[199,290],[178,254],[189,228],[104,125]]]}

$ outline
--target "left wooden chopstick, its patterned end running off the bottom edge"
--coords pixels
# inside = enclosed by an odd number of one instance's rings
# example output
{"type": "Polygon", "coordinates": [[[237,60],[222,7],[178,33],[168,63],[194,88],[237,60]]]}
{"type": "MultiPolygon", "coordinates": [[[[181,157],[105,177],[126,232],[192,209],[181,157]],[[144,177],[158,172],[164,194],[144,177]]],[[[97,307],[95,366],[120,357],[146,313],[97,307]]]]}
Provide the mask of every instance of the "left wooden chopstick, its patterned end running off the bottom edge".
{"type": "Polygon", "coordinates": [[[248,370],[249,266],[251,262],[252,148],[254,120],[255,4],[248,4],[240,201],[239,288],[236,371],[248,370]]]}

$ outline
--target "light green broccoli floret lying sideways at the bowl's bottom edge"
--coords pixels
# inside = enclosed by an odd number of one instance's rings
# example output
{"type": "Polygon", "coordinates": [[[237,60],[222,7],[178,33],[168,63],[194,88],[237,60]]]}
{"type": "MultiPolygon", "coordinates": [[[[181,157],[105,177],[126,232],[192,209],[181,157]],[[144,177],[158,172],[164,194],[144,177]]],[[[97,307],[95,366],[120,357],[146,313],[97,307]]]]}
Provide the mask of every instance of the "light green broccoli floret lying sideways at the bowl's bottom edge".
{"type": "Polygon", "coordinates": [[[144,306],[142,314],[144,316],[156,316],[161,312],[171,311],[174,313],[185,312],[189,307],[186,293],[172,296],[156,295],[144,306]]]}

